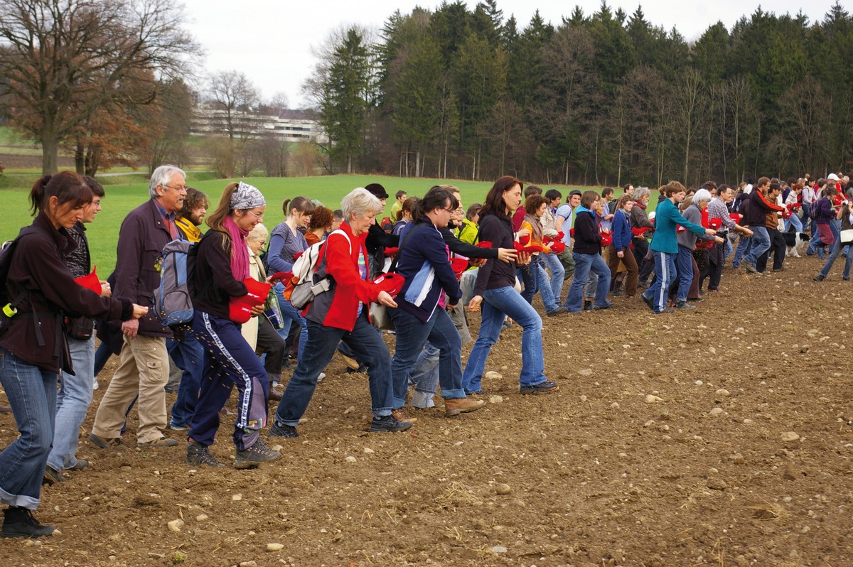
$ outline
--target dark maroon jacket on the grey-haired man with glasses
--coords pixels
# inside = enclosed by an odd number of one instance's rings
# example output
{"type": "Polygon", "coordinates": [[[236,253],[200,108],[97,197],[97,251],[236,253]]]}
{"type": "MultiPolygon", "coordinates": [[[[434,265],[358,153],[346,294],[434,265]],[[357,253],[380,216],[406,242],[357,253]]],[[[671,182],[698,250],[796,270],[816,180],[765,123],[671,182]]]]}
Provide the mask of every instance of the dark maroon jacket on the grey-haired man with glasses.
{"type": "MultiPolygon", "coordinates": [[[[127,213],[119,229],[113,296],[153,308],[154,290],[160,286],[163,247],[171,240],[154,200],[127,213]]],[[[139,320],[139,334],[171,338],[171,330],[160,325],[154,309],[148,310],[148,315],[139,320]]]]}

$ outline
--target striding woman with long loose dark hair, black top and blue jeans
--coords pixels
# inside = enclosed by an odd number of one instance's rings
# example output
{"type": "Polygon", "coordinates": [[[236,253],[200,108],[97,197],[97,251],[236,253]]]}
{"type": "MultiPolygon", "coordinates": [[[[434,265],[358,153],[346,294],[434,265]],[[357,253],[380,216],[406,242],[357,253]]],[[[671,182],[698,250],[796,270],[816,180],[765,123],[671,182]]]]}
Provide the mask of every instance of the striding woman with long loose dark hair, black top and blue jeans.
{"type": "MultiPolygon", "coordinates": [[[[513,224],[509,215],[521,205],[523,183],[513,176],[500,177],[486,195],[480,217],[480,240],[488,240],[493,248],[513,248],[513,224]]],[[[520,254],[516,263],[525,263],[530,257],[520,254]]],[[[482,379],[485,361],[493,344],[501,335],[503,321],[507,316],[522,327],[521,373],[519,391],[522,394],[537,394],[555,391],[556,382],[545,376],[545,361],[542,344],[542,318],[515,291],[515,267],[512,263],[490,258],[479,269],[474,296],[468,310],[482,308],[479,337],[468,356],[462,373],[462,387],[467,394],[483,394],[482,379]]]]}

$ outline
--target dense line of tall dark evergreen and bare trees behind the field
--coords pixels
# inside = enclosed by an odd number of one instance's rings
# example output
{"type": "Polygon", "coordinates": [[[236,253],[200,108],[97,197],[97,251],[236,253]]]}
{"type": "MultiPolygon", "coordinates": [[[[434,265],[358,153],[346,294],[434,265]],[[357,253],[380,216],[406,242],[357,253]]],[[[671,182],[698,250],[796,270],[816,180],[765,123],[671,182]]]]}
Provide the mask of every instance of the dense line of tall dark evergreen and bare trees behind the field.
{"type": "Polygon", "coordinates": [[[316,50],[329,171],[653,186],[853,166],[853,19],[757,9],[688,43],[601,3],[520,28],[496,0],[392,14],[316,50]]]}

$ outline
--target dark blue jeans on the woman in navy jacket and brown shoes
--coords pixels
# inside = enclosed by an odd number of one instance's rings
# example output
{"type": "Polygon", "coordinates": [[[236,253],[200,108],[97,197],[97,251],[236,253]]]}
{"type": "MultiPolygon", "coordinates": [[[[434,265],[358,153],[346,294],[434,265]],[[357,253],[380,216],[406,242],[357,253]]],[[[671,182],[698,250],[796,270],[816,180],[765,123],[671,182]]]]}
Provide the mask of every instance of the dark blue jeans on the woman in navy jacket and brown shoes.
{"type": "Polygon", "coordinates": [[[465,397],[465,391],[462,390],[462,340],[447,311],[440,306],[436,307],[426,322],[400,308],[389,309],[388,313],[397,329],[397,348],[391,361],[393,408],[399,409],[406,404],[409,372],[415,366],[427,339],[440,351],[438,381],[441,383],[441,396],[445,400],[465,397]]]}

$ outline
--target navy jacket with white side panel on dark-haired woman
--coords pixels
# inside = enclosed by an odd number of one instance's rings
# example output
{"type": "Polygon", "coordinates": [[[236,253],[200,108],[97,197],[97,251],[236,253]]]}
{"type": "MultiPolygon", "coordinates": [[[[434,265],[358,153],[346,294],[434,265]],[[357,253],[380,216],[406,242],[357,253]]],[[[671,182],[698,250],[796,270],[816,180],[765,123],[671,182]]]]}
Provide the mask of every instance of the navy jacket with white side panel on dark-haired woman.
{"type": "Polygon", "coordinates": [[[403,247],[397,252],[396,270],[404,279],[397,295],[400,309],[426,322],[435,311],[442,290],[447,293],[448,304],[459,303],[462,292],[450,267],[447,245],[432,222],[425,217],[409,223],[400,234],[400,243],[403,247]]]}

